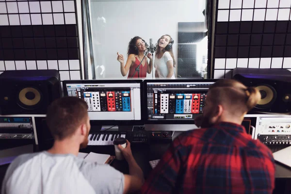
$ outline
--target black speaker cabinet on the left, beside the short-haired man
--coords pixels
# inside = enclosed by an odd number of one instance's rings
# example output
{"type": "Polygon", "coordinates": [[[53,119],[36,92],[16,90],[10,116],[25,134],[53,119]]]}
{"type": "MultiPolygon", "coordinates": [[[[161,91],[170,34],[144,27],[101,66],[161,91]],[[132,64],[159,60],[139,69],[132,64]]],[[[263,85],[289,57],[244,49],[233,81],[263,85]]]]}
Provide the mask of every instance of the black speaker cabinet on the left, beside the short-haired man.
{"type": "Polygon", "coordinates": [[[0,74],[0,114],[46,114],[61,97],[57,70],[17,70],[0,74]]]}

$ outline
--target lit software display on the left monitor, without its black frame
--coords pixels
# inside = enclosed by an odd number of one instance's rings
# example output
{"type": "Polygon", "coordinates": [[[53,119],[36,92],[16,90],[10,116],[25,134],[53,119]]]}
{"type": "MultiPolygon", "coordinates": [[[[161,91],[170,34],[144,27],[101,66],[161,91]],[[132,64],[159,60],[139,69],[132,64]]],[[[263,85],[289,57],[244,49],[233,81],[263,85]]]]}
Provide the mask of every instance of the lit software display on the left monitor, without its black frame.
{"type": "Polygon", "coordinates": [[[141,83],[67,83],[66,90],[86,101],[91,120],[141,120],[141,83]]]}

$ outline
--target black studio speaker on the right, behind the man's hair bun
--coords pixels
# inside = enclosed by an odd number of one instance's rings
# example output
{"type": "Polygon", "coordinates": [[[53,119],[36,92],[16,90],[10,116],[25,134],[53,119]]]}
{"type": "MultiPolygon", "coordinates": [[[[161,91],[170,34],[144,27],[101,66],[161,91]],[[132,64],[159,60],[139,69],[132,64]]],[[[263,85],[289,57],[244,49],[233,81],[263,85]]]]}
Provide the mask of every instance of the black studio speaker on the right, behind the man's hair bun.
{"type": "Polygon", "coordinates": [[[256,87],[261,100],[251,113],[291,113],[291,72],[287,69],[235,68],[232,78],[256,87]]]}

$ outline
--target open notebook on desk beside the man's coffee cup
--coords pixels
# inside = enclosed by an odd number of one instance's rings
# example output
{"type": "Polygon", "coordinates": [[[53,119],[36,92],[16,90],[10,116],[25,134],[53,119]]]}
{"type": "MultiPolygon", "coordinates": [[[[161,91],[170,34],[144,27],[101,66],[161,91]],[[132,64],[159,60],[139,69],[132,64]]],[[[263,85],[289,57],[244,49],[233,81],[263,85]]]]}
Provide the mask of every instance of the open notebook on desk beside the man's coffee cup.
{"type": "Polygon", "coordinates": [[[86,162],[97,162],[98,164],[110,164],[115,158],[114,156],[110,156],[109,154],[97,154],[94,152],[90,152],[89,154],[79,152],[78,157],[83,158],[86,162]]]}

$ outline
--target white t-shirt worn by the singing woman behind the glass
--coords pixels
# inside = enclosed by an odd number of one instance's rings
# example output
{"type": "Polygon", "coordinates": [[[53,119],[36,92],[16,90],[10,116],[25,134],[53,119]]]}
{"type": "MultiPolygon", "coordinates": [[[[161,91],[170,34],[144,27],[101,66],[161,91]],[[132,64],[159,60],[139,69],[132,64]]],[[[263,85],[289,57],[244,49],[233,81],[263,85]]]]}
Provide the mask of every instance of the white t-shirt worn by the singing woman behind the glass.
{"type": "MultiPolygon", "coordinates": [[[[168,66],[167,66],[167,62],[168,61],[173,61],[173,58],[171,56],[171,54],[169,52],[164,52],[164,54],[162,55],[162,58],[161,59],[158,59],[157,57],[155,58],[155,68],[156,68],[156,71],[159,75],[159,78],[167,78],[167,75],[169,73],[168,71],[168,66]]],[[[175,69],[174,69],[175,71],[175,69]]],[[[171,78],[168,78],[168,79],[176,79],[175,78],[175,73],[173,73],[172,77],[171,78]]]]}

